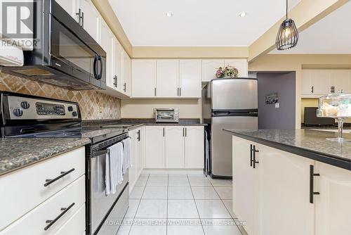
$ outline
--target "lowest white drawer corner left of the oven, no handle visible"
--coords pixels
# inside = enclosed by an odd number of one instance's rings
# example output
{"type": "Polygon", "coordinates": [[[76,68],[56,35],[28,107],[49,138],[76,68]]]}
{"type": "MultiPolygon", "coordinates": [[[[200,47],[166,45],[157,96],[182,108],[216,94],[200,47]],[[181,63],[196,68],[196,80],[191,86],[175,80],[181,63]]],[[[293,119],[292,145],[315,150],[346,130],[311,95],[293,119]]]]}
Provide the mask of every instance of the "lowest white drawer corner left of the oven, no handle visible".
{"type": "Polygon", "coordinates": [[[86,205],[81,205],[78,211],[70,217],[55,235],[85,234],[86,231],[86,205]]]}

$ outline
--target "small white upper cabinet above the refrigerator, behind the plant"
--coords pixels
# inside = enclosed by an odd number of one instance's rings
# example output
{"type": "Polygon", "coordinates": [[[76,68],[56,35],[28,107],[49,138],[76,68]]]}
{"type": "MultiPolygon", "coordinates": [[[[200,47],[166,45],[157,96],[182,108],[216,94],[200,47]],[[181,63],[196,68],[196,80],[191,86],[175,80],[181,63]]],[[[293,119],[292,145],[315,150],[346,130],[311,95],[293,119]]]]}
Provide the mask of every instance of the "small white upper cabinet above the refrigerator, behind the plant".
{"type": "Polygon", "coordinates": [[[248,64],[246,58],[233,59],[209,59],[202,60],[202,82],[210,82],[216,78],[216,71],[218,68],[230,65],[237,68],[239,77],[248,76],[248,64]]]}

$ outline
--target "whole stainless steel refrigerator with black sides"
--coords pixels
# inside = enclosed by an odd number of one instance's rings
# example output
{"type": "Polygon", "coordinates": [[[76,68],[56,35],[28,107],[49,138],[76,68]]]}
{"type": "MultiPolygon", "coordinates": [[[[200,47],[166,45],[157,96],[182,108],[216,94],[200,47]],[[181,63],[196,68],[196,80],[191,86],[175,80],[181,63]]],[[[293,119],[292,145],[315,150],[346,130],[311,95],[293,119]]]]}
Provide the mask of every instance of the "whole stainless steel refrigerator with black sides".
{"type": "Polygon", "coordinates": [[[232,177],[232,134],[223,129],[258,129],[257,95],[251,78],[216,79],[202,89],[211,177],[232,177]]]}

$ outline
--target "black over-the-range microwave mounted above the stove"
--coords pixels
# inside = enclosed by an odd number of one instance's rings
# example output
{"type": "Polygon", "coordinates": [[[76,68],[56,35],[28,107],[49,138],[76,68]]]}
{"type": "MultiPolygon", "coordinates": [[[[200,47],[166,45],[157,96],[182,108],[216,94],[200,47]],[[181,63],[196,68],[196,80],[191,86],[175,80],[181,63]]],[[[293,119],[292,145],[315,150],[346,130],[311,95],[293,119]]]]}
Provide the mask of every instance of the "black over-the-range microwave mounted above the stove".
{"type": "Polygon", "coordinates": [[[24,51],[22,67],[3,70],[65,89],[105,89],[102,47],[55,0],[33,2],[34,49],[24,51]]]}

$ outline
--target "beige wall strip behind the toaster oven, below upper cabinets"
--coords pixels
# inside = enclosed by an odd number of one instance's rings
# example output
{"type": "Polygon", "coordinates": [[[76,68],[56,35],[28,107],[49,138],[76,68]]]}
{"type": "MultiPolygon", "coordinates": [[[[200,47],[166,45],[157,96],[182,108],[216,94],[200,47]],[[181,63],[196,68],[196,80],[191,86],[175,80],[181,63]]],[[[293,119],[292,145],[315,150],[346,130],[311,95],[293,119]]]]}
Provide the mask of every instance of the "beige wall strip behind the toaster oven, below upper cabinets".
{"type": "Polygon", "coordinates": [[[179,108],[180,118],[201,118],[201,99],[125,99],[121,118],[154,118],[154,108],[179,108]]]}

